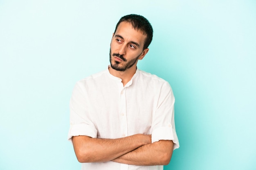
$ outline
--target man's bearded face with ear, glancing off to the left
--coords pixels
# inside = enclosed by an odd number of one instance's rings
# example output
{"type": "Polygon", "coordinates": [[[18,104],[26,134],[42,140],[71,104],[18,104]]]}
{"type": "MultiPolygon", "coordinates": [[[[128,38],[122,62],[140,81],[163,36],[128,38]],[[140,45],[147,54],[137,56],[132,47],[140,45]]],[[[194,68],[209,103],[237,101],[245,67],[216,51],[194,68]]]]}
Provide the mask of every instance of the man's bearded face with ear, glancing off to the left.
{"type": "Polygon", "coordinates": [[[121,22],[110,44],[110,65],[117,71],[136,68],[139,59],[143,59],[148,48],[143,50],[146,35],[132,28],[128,22],[121,22]]]}

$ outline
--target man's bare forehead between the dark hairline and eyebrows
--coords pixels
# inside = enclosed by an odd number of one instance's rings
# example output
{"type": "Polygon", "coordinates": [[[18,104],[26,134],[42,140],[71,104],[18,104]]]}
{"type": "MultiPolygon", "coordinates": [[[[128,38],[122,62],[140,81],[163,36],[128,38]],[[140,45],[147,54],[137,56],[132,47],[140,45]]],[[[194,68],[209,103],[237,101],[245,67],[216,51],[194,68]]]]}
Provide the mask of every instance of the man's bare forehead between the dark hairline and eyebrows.
{"type": "Polygon", "coordinates": [[[139,30],[135,30],[129,22],[121,22],[117,27],[115,35],[121,35],[125,40],[135,41],[141,46],[144,45],[146,39],[146,35],[139,30]]]}

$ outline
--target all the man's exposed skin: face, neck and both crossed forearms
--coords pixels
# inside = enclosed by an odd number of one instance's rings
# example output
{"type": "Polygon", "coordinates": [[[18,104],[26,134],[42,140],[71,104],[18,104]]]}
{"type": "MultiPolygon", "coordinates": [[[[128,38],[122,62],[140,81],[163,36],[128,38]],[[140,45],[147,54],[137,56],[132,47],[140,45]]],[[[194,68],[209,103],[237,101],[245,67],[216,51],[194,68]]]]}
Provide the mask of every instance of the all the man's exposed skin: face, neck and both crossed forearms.
{"type": "MultiPolygon", "coordinates": [[[[124,86],[135,74],[138,60],[148,52],[148,48],[143,49],[145,39],[146,35],[128,22],[121,22],[112,36],[109,72],[121,78],[124,86]]],[[[74,136],[72,142],[81,163],[115,161],[138,166],[167,165],[173,153],[173,141],[151,143],[151,135],[144,134],[118,139],[74,136]]]]}

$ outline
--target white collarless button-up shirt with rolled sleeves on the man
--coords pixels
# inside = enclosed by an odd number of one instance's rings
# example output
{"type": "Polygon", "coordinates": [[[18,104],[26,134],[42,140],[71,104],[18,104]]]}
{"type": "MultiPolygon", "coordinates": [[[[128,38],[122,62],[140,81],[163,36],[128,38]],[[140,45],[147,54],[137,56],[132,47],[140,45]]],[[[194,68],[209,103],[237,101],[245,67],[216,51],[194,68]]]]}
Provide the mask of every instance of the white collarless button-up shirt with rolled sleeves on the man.
{"type": "MultiPolygon", "coordinates": [[[[174,96],[167,81],[139,69],[125,85],[107,70],[93,74],[74,87],[70,100],[72,136],[116,139],[151,134],[152,143],[179,141],[174,123],[174,96]]],[[[82,163],[82,170],[162,170],[163,166],[133,166],[113,161],[82,163]]]]}

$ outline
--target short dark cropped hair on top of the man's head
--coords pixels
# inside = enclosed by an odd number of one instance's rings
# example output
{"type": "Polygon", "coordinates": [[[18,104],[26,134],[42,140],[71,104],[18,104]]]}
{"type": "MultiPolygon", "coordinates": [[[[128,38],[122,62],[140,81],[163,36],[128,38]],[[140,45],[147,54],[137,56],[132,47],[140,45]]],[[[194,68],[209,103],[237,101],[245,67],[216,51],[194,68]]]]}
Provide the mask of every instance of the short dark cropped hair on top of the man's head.
{"type": "Polygon", "coordinates": [[[130,14],[130,15],[125,15],[125,16],[121,17],[119,22],[117,23],[114,34],[116,33],[117,27],[119,26],[119,24],[121,22],[128,22],[128,23],[132,24],[132,27],[135,30],[139,30],[144,35],[147,35],[145,42],[144,42],[143,50],[148,48],[148,46],[151,43],[152,38],[153,38],[153,28],[145,17],[143,17],[141,15],[137,15],[137,14],[130,14]]]}

